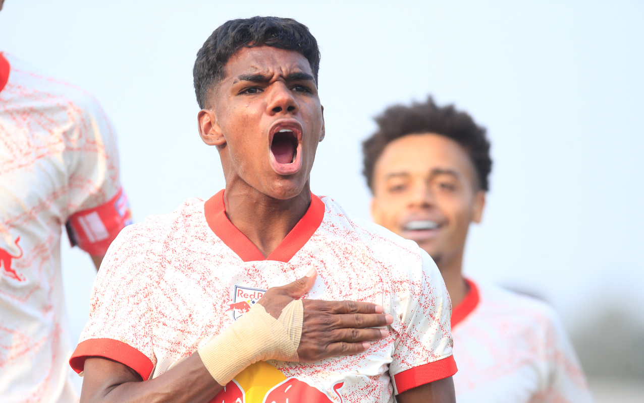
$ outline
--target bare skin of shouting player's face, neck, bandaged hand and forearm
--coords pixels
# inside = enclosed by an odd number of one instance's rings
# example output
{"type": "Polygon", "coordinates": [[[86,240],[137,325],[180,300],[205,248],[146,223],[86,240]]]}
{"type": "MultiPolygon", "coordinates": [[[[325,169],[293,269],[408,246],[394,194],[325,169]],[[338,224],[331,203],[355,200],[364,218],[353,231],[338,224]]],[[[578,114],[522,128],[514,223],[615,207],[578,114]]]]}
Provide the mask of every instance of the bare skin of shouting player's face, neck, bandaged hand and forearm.
{"type": "MultiPolygon", "coordinates": [[[[220,153],[227,216],[268,256],[308,209],[309,173],[324,137],[323,108],[308,61],[299,53],[267,46],[240,49],[211,91],[207,109],[198,113],[198,128],[204,142],[220,153]],[[307,75],[311,79],[303,78],[307,75]],[[276,124],[299,125],[303,132],[298,145],[301,167],[289,175],[280,175],[270,162],[270,130],[276,124]]],[[[259,303],[278,318],[290,301],[313,286],[316,273],[309,274],[269,289],[259,303]]],[[[364,352],[370,346],[366,341],[388,336],[387,330],[375,327],[393,321],[371,303],[303,300],[303,306],[305,330],[298,356],[304,362],[364,352]]],[[[223,388],[198,353],[155,379],[141,381],[128,366],[90,357],[81,402],[206,403],[223,388]]]]}

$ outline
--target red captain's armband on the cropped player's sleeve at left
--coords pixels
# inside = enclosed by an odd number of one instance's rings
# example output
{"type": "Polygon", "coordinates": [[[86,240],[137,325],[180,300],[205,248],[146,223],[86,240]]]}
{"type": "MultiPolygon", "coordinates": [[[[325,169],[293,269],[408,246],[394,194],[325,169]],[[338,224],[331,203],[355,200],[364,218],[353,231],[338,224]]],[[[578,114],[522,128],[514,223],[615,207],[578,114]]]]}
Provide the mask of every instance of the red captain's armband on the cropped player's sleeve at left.
{"type": "Polygon", "coordinates": [[[72,246],[102,256],[125,226],[132,223],[128,197],[122,188],[108,202],[71,215],[66,224],[72,246]]]}

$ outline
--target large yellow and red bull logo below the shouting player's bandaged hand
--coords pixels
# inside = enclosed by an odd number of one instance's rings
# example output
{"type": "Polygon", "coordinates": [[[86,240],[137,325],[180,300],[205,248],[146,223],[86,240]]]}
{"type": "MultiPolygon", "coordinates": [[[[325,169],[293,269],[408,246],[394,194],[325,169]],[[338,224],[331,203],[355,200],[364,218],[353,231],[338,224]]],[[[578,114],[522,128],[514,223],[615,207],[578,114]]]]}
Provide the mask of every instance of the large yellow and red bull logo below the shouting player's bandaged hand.
{"type": "Polygon", "coordinates": [[[343,403],[339,390],[344,384],[332,386],[332,397],[316,382],[287,378],[274,366],[260,361],[228,382],[211,403],[343,403]]]}

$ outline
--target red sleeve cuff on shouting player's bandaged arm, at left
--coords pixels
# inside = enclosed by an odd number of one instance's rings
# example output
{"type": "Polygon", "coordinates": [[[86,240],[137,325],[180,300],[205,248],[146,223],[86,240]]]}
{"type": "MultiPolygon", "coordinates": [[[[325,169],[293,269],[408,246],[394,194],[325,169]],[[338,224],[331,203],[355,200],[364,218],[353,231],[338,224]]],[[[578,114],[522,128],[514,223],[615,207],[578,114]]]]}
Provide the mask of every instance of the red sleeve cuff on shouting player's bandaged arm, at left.
{"type": "Polygon", "coordinates": [[[70,366],[76,373],[81,373],[87,357],[105,357],[132,368],[146,381],[152,374],[152,361],[136,348],[114,339],[88,339],[74,350],[70,366]]]}

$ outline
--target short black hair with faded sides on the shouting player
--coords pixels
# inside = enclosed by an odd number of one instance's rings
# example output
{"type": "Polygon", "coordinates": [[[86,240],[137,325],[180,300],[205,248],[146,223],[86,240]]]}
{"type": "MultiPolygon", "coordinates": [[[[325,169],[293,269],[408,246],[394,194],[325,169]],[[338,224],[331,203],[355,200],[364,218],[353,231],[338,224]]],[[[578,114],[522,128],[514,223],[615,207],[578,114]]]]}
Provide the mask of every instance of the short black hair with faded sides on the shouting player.
{"type": "Polygon", "coordinates": [[[313,70],[317,85],[320,51],[307,26],[290,18],[252,17],[224,22],[204,42],[194,61],[194,93],[204,109],[209,89],[222,80],[223,67],[240,48],[272,46],[301,53],[313,70]]]}

